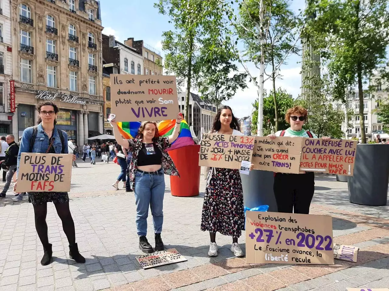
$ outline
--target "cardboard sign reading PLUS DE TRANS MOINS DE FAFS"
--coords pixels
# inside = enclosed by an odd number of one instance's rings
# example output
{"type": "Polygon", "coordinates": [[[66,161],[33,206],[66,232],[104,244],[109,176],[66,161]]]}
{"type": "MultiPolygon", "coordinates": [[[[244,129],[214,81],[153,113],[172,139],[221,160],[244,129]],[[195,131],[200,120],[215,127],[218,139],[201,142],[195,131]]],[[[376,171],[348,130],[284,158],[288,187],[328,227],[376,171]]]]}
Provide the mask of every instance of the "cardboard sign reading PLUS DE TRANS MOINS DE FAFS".
{"type": "Polygon", "coordinates": [[[22,152],[16,192],[68,192],[72,154],[22,152]]]}

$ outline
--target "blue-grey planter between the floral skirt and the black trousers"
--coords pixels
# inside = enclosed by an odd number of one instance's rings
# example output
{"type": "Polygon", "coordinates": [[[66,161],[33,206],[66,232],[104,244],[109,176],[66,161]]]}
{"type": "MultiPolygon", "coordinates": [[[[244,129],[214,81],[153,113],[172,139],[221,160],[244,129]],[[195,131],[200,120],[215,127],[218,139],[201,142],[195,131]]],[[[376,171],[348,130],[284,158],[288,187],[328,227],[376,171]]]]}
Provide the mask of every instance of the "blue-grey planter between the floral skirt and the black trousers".
{"type": "Polygon", "coordinates": [[[269,210],[277,212],[273,192],[274,173],[270,171],[252,170],[250,175],[241,174],[244,206],[254,208],[269,205],[269,210]]]}

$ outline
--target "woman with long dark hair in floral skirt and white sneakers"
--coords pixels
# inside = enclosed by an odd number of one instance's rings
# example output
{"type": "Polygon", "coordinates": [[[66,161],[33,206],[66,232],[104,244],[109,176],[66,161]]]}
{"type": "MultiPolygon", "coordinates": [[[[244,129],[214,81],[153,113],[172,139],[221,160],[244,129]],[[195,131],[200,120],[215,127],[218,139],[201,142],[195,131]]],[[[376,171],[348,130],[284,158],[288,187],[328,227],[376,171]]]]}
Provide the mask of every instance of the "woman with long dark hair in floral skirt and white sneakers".
{"type": "MultiPolygon", "coordinates": [[[[242,135],[230,106],[217,111],[210,133],[242,135]]],[[[251,165],[252,168],[253,165],[251,165]]],[[[242,180],[239,170],[210,168],[205,187],[201,230],[209,231],[209,256],[217,256],[216,232],[232,236],[231,251],[243,256],[238,237],[244,229],[242,180]]]]}

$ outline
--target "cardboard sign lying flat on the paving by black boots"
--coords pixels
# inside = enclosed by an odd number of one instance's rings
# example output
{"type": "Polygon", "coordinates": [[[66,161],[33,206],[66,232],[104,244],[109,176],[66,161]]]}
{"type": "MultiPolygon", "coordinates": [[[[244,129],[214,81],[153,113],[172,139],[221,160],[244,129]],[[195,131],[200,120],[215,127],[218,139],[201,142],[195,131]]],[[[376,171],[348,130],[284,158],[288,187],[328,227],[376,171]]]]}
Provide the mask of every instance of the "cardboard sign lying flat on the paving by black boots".
{"type": "Polygon", "coordinates": [[[181,256],[177,249],[156,251],[155,253],[147,255],[135,256],[135,258],[139,265],[144,269],[187,261],[184,256],[181,256]]]}

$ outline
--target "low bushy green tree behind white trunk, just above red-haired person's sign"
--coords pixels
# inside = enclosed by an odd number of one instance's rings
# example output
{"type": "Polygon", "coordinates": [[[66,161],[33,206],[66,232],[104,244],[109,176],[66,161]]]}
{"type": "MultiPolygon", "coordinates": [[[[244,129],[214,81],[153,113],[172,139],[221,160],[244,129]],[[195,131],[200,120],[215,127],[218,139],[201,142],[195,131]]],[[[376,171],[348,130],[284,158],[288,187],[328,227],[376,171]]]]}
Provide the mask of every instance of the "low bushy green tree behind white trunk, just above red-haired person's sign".
{"type": "MultiPolygon", "coordinates": [[[[277,123],[278,130],[284,130],[289,127],[289,124],[285,121],[286,111],[293,106],[293,98],[287,94],[286,90],[282,90],[278,88],[275,92],[276,96],[276,104],[277,107],[277,123]]],[[[276,111],[274,108],[274,92],[271,91],[269,95],[267,95],[266,90],[264,91],[263,98],[263,135],[268,135],[270,133],[276,132],[275,124],[276,124],[276,111]]],[[[251,115],[251,132],[255,134],[257,132],[257,122],[258,122],[258,100],[252,104],[253,111],[251,115]]]]}

